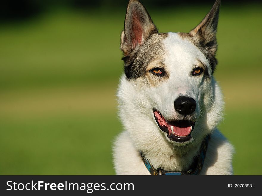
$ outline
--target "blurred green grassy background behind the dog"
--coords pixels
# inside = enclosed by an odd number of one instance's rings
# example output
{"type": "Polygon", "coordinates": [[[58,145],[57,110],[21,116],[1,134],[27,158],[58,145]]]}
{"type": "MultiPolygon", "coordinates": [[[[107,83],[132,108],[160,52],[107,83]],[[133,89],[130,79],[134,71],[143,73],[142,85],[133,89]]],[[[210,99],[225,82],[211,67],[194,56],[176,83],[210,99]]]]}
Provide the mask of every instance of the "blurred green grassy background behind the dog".
{"type": "MultiPolygon", "coordinates": [[[[127,1],[46,2],[1,12],[0,174],[113,175],[127,1]]],[[[189,32],[213,4],[152,2],[142,1],[159,32],[189,32]]],[[[220,11],[219,128],[236,148],[236,175],[262,175],[261,11],[255,1],[222,1],[220,11]]]]}

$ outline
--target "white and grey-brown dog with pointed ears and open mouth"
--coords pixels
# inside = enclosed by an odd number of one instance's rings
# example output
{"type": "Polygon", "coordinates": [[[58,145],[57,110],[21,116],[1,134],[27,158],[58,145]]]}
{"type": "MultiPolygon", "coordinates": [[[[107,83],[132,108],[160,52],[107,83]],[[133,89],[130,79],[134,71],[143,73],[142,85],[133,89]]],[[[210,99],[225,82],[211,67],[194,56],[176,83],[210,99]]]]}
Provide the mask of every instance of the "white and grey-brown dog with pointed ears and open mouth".
{"type": "Polygon", "coordinates": [[[222,91],[214,79],[220,0],[189,33],[158,33],[130,0],[121,34],[117,91],[124,131],[113,145],[117,175],[232,175],[234,148],[216,126],[222,91]]]}

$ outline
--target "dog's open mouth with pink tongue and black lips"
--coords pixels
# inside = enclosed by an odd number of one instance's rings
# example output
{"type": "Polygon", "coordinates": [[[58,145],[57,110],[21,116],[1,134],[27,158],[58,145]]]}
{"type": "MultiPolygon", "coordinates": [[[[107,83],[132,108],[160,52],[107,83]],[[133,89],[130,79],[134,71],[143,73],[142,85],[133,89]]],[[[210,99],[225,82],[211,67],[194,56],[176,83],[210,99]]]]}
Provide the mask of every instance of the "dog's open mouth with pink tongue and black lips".
{"type": "Polygon", "coordinates": [[[190,120],[166,120],[159,111],[153,110],[159,128],[167,133],[167,137],[175,142],[186,142],[191,139],[195,122],[190,120]]]}

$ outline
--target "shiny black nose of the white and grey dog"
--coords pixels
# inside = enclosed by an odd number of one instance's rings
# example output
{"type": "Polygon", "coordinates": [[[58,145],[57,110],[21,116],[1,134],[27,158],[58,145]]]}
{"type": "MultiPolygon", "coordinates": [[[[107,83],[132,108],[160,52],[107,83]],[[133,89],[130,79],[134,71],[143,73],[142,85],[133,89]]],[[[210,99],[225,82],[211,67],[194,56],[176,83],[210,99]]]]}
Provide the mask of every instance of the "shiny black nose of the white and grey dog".
{"type": "Polygon", "coordinates": [[[197,103],[193,98],[181,96],[175,100],[174,106],[179,114],[186,116],[196,110],[197,103]]]}

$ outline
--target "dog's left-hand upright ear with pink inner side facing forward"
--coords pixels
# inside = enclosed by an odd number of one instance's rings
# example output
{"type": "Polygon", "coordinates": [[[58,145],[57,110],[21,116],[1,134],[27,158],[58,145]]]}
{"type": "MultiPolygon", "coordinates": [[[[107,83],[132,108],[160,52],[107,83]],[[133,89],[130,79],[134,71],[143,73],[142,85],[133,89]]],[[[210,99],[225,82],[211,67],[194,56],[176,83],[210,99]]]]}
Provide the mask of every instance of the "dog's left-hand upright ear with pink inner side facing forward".
{"type": "Polygon", "coordinates": [[[158,30],[145,7],[138,0],[130,0],[121,34],[121,50],[128,56],[136,47],[142,45],[152,33],[158,30]]]}

